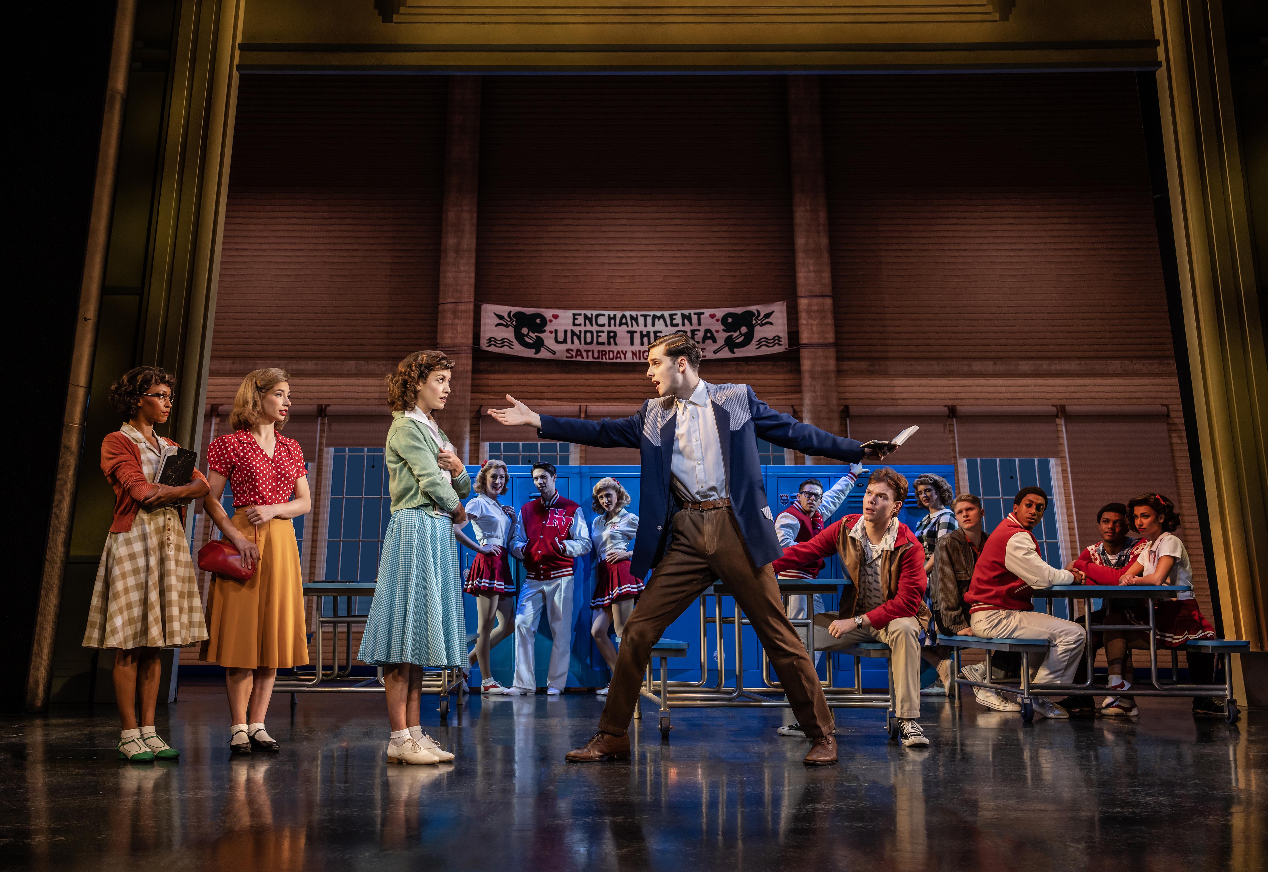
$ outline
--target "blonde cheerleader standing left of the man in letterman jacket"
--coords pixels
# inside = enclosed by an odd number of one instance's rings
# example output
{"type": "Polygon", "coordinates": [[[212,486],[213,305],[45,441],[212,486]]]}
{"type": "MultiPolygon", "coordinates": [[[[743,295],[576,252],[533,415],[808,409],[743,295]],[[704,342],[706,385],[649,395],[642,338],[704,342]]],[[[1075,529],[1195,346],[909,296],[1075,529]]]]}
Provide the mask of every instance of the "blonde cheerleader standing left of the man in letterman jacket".
{"type": "Polygon", "coordinates": [[[476,474],[476,496],[467,503],[467,518],[476,531],[476,541],[454,527],[458,541],[476,551],[463,591],[476,597],[479,617],[479,635],[468,662],[479,664],[481,693],[506,693],[506,688],[493,678],[488,653],[515,630],[515,578],[511,575],[510,554],[519,515],[498,501],[510,482],[506,464],[501,460],[489,460],[481,466],[476,474]],[[491,626],[495,619],[497,626],[491,626]]]}

